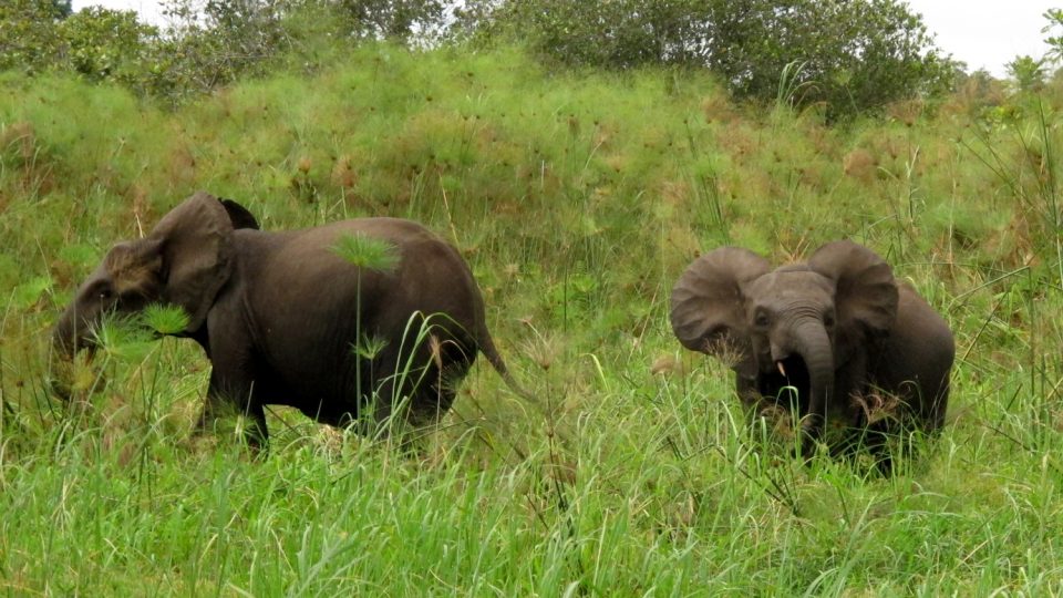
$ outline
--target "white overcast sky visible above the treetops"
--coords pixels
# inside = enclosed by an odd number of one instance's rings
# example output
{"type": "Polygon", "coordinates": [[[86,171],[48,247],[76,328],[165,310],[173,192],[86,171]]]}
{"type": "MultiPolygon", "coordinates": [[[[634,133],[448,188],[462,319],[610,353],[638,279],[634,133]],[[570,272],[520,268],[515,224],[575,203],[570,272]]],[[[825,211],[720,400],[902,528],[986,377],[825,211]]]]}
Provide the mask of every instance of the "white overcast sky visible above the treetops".
{"type": "MultiPolygon", "coordinates": [[[[163,24],[155,0],[74,0],[74,10],[90,4],[133,9],[146,21],[163,24]]],[[[938,45],[968,70],[988,69],[1004,76],[1004,64],[1016,55],[1041,58],[1047,47],[1041,28],[1050,8],[1063,8],[1063,0],[908,0],[922,14],[927,28],[937,34],[938,45]]],[[[1056,32],[1056,34],[1063,31],[1056,32]]]]}

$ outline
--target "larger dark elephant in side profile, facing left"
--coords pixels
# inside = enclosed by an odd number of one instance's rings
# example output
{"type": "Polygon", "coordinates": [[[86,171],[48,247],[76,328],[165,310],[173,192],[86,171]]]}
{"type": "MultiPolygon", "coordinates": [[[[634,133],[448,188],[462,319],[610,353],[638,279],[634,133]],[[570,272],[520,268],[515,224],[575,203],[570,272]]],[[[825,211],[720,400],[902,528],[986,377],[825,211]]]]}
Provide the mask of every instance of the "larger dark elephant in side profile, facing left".
{"type": "Polygon", "coordinates": [[[198,429],[226,402],[249,416],[254,446],[267,440],[266,404],[332,425],[372,404],[376,424],[409,398],[407,417],[431,420],[451,406],[477,350],[516,390],[468,267],[409,220],[265,233],[239,204],[197,193],[146,238],[111,249],[56,323],[56,354],[91,349],[102,315],[149,302],[184,308],[188,324],[177,336],[195,339],[211,361],[198,429]],[[396,264],[354,266],[336,250],[347,236],[383,241],[396,264]]]}

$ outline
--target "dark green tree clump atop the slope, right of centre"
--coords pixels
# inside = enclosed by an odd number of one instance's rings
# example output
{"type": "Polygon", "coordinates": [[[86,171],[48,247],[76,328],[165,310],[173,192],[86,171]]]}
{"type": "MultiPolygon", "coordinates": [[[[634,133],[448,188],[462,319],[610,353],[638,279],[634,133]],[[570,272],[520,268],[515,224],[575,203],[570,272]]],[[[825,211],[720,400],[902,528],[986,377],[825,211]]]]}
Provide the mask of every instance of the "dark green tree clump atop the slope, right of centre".
{"type": "Polygon", "coordinates": [[[457,23],[561,64],[708,66],[739,97],[775,100],[785,79],[832,118],[947,90],[956,72],[899,0],[471,0],[457,23]]]}

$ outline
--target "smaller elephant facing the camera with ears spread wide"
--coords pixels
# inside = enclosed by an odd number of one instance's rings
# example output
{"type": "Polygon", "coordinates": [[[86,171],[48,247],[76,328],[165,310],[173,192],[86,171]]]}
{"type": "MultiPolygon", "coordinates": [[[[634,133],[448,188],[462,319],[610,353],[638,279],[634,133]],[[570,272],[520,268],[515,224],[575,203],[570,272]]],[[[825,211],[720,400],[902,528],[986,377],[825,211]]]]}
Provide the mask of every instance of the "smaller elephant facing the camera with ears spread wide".
{"type": "Polygon", "coordinates": [[[747,406],[795,405],[806,454],[825,424],[848,430],[833,446],[847,451],[860,436],[880,450],[887,433],[945,422],[952,333],[855,243],[775,270],[737,247],[705,254],[675,283],[671,320],[683,347],[727,360],[747,406]],[[891,399],[894,409],[876,409],[891,399]]]}

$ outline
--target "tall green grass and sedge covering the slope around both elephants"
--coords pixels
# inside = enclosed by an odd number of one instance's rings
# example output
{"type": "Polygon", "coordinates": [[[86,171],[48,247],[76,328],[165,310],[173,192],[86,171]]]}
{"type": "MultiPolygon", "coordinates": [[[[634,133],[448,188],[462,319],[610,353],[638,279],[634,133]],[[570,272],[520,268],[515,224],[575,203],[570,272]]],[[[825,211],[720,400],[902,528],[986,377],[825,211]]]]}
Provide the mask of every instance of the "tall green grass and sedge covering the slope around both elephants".
{"type": "Polygon", "coordinates": [[[1063,592],[1063,90],[972,78],[828,126],[701,72],[532,56],[363,43],[177,104],[3,74],[0,587],[1063,592]],[[202,351],[122,328],[59,403],[48,333],[78,281],[200,188],[270,229],[393,215],[452,239],[539,403],[481,364],[415,456],[278,409],[254,460],[236,417],[188,439],[202,351]],[[788,458],[667,321],[699,251],[785,261],[840,237],[957,337],[948,427],[888,478],[788,458]]]}

